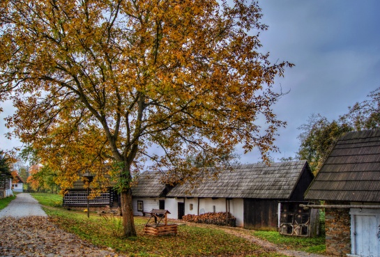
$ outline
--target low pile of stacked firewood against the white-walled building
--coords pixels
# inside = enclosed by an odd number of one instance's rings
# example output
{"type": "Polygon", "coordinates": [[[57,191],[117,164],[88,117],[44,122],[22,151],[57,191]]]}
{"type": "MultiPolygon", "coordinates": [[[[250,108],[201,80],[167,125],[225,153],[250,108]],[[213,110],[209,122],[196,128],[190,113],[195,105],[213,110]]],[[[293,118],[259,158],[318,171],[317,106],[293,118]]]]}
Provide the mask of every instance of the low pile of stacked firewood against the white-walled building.
{"type": "Polygon", "coordinates": [[[183,221],[213,224],[219,226],[236,226],[236,218],[229,212],[207,212],[202,215],[185,215],[183,221]]]}

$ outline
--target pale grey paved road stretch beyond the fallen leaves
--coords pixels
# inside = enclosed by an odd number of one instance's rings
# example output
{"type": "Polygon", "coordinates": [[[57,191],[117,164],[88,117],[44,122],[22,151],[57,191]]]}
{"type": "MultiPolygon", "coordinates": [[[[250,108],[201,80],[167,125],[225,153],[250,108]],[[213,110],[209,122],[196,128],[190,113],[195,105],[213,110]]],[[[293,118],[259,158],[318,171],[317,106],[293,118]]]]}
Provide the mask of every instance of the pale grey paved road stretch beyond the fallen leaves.
{"type": "Polygon", "coordinates": [[[0,211],[1,217],[29,217],[29,216],[43,216],[46,213],[41,208],[38,201],[30,194],[21,193],[17,194],[15,200],[11,201],[9,205],[0,211]]]}

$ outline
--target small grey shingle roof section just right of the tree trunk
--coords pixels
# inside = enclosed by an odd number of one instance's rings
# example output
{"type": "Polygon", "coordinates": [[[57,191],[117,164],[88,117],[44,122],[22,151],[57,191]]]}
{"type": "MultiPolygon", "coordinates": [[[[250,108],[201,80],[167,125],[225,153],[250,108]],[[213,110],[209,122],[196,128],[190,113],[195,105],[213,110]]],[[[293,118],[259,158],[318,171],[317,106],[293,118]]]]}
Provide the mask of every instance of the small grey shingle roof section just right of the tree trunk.
{"type": "Polygon", "coordinates": [[[160,175],[153,171],[140,174],[132,186],[133,197],[160,197],[167,187],[160,181],[160,175]]]}

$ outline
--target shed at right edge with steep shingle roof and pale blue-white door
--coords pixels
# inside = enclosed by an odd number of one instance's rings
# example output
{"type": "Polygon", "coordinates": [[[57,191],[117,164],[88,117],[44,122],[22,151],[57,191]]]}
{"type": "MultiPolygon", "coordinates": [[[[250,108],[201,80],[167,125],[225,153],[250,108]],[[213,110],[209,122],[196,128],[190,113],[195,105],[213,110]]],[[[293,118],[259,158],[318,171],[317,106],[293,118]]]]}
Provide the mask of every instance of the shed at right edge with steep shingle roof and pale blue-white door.
{"type": "Polygon", "coordinates": [[[338,139],[305,198],[325,201],[326,251],[380,257],[380,130],[338,139]]]}

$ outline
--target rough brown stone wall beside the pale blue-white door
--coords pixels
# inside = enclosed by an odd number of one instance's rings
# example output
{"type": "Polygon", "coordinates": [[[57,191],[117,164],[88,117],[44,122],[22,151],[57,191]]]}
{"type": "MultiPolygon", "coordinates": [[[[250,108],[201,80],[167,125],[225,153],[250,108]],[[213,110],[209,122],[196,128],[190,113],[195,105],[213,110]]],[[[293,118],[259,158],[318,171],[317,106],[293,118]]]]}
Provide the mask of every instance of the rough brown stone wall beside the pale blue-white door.
{"type": "Polygon", "coordinates": [[[326,254],[331,256],[346,256],[346,254],[350,254],[351,217],[349,209],[332,208],[326,209],[325,213],[326,254]]]}

